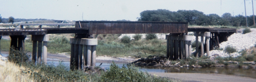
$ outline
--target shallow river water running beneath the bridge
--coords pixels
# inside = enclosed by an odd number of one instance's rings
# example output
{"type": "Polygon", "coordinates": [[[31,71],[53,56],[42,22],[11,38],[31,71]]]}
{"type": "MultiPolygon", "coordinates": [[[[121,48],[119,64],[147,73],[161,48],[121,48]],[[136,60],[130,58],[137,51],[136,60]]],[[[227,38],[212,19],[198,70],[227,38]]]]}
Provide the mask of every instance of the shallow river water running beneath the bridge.
{"type": "MultiPolygon", "coordinates": [[[[7,57],[7,54],[2,54],[7,57]]],[[[69,68],[70,62],[58,62],[58,61],[47,61],[47,64],[53,64],[57,66],[58,64],[64,64],[69,68]]],[[[96,63],[99,66],[100,63],[96,63]]],[[[111,63],[102,63],[100,67],[104,67],[106,70],[109,69],[111,63]]],[[[126,64],[117,63],[119,67],[126,64]]],[[[141,71],[147,72],[171,72],[171,73],[206,73],[206,74],[224,74],[224,75],[235,75],[235,76],[245,76],[256,79],[256,69],[244,69],[244,68],[227,68],[227,67],[204,67],[204,68],[192,68],[192,67],[155,67],[155,66],[143,66],[138,67],[141,71]]]]}

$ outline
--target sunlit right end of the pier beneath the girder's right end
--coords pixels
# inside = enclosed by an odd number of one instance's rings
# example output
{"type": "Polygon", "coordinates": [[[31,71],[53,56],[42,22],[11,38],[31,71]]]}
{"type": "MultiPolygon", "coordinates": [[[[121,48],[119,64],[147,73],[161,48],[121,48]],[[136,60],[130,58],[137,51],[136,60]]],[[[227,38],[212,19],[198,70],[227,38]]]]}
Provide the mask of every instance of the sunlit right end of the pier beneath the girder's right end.
{"type": "Polygon", "coordinates": [[[191,41],[192,41],[191,35],[184,35],[183,40],[185,41],[185,54],[184,59],[187,59],[189,56],[192,55],[192,48],[191,48],[191,41]]]}

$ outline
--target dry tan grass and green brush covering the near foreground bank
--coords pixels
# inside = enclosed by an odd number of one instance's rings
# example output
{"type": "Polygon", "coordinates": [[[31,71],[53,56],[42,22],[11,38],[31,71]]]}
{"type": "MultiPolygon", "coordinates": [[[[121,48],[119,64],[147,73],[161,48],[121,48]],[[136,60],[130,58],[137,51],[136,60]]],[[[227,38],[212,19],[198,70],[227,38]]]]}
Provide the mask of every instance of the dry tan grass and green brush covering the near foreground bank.
{"type": "MultiPolygon", "coordinates": [[[[12,50],[19,57],[24,51],[12,50]],[[18,53],[17,53],[18,52],[18,53]]],[[[16,57],[9,57],[15,60],[16,57]]],[[[7,62],[0,65],[1,82],[173,82],[165,77],[151,76],[133,65],[119,68],[114,62],[106,71],[86,73],[83,70],[69,70],[60,63],[57,66],[34,64],[29,60],[7,62]],[[11,69],[10,69],[11,68],[11,69]]]]}

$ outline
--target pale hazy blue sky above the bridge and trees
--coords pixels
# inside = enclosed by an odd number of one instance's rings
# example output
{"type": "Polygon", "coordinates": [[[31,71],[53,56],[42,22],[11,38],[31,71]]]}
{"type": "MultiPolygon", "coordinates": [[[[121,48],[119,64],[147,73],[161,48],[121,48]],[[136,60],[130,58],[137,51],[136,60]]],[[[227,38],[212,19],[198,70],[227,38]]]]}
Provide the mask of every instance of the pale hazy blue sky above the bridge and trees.
{"type": "MultiPolygon", "coordinates": [[[[256,0],[253,2],[256,7],[256,0]]],[[[245,0],[245,4],[247,16],[252,15],[252,1],[245,0]]],[[[219,16],[229,12],[232,16],[245,16],[244,0],[0,0],[2,18],[137,21],[140,12],[157,9],[197,10],[219,16]]]]}

